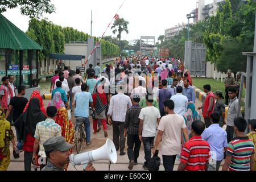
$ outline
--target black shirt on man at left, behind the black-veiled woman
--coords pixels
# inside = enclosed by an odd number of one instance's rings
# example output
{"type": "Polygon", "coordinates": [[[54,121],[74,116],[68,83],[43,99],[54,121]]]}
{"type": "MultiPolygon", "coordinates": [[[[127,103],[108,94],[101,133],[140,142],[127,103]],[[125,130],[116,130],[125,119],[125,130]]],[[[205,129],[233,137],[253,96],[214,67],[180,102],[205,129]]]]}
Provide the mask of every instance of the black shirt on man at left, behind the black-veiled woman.
{"type": "Polygon", "coordinates": [[[13,106],[13,121],[15,122],[19,116],[23,113],[23,110],[28,100],[25,97],[13,97],[11,98],[10,105],[13,106]]]}

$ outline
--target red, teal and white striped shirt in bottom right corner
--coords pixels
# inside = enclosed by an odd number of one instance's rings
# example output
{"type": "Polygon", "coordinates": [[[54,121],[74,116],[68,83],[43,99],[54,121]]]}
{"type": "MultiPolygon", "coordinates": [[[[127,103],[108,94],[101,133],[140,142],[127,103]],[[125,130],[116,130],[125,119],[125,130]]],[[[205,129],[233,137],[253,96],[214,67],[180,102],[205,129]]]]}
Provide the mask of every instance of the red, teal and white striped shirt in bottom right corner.
{"type": "Polygon", "coordinates": [[[250,158],[254,144],[249,137],[237,137],[228,144],[227,155],[232,156],[229,171],[250,171],[250,158]]]}

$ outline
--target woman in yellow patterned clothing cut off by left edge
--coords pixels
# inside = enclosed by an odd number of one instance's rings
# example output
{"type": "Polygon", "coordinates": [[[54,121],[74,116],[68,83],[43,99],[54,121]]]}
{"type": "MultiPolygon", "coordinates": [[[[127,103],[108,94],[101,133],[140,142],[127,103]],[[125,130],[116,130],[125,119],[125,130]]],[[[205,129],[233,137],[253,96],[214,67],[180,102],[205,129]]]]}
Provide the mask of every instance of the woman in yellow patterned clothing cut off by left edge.
{"type": "Polygon", "coordinates": [[[0,108],[0,171],[6,171],[10,164],[10,141],[15,151],[13,130],[11,130],[10,122],[5,119],[5,110],[0,108]]]}

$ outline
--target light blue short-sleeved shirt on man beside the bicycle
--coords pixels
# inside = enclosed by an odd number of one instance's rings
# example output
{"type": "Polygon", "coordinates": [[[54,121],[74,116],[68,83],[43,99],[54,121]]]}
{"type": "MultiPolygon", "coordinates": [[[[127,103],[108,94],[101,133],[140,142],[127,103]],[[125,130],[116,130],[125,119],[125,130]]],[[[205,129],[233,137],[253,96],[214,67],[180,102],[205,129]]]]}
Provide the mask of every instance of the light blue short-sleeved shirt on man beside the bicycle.
{"type": "Polygon", "coordinates": [[[75,117],[89,117],[89,102],[93,102],[92,94],[89,92],[78,92],[75,95],[76,101],[75,117]]]}

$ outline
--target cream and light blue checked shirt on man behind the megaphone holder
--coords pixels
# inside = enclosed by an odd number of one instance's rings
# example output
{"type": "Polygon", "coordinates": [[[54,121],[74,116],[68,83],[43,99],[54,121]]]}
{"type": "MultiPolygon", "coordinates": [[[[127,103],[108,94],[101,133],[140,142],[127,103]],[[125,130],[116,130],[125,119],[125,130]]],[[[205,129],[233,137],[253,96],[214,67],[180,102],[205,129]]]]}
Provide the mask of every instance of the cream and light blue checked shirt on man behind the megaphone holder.
{"type": "Polygon", "coordinates": [[[47,118],[46,121],[36,125],[34,137],[39,139],[39,151],[44,151],[43,143],[52,137],[61,137],[61,127],[54,120],[47,118]]]}

